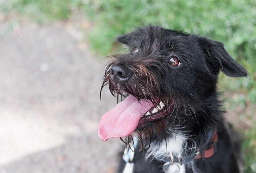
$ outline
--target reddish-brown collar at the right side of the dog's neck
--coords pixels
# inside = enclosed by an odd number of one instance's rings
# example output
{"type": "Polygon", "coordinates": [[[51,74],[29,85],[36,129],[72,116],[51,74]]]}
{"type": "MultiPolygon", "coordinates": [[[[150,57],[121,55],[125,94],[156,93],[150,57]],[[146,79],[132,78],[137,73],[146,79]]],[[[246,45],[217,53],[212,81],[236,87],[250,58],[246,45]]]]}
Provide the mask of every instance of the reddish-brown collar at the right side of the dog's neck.
{"type": "Polygon", "coordinates": [[[217,142],[218,142],[218,134],[217,129],[214,129],[214,132],[212,133],[211,140],[209,142],[209,146],[207,150],[204,150],[203,152],[197,149],[197,155],[195,159],[201,159],[211,157],[216,151],[217,151],[217,142]]]}

